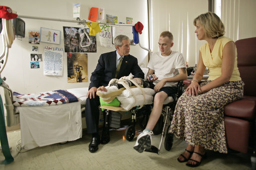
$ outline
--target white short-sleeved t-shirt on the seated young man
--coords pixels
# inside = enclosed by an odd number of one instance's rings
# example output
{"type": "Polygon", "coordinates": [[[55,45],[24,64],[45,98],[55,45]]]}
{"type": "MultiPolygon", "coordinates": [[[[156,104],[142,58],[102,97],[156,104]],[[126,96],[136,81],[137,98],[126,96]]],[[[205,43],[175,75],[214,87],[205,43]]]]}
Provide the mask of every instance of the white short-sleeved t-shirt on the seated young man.
{"type": "MultiPolygon", "coordinates": [[[[178,68],[186,68],[186,62],[183,55],[179,52],[171,51],[169,56],[162,56],[161,52],[154,53],[149,60],[148,67],[155,70],[158,77],[153,83],[156,85],[164,78],[178,75],[178,68]]],[[[177,86],[177,83],[167,82],[164,87],[177,86]]]]}

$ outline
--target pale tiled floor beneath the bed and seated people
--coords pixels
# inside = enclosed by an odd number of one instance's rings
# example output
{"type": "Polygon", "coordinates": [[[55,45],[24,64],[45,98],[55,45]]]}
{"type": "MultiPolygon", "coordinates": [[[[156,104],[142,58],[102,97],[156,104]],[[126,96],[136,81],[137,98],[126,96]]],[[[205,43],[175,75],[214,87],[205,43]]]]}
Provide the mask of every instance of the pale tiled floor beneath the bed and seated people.
{"type": "MultiPolygon", "coordinates": [[[[178,163],[177,157],[186,147],[185,142],[174,138],[171,151],[164,145],[160,155],[156,153],[138,153],[133,149],[136,137],[129,142],[123,140],[125,128],[111,130],[111,141],[99,145],[96,153],[88,151],[90,135],[66,144],[54,144],[19,153],[14,162],[0,165],[0,170],[251,170],[249,154],[220,154],[207,151],[208,158],[197,168],[189,168],[185,163],[178,163]]],[[[17,153],[16,143],[20,131],[8,132],[8,141],[12,155],[17,153]]],[[[153,136],[153,145],[159,145],[161,135],[153,136]]],[[[0,153],[0,161],[4,157],[0,153]]]]}

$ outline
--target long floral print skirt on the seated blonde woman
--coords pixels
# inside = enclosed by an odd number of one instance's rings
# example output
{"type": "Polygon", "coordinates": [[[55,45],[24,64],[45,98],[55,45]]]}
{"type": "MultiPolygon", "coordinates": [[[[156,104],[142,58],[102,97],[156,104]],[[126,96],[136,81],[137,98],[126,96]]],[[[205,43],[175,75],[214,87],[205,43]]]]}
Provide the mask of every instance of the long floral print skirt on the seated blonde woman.
{"type": "Polygon", "coordinates": [[[243,90],[243,81],[230,81],[198,96],[183,93],[177,101],[169,132],[192,146],[228,153],[223,107],[242,99],[243,90]]]}

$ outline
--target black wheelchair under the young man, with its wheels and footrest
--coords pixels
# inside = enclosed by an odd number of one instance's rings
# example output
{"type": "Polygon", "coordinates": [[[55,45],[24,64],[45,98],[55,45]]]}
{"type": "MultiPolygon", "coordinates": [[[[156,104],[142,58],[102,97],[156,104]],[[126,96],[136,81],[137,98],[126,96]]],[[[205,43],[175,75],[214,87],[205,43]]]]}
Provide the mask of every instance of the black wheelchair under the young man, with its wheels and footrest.
{"type": "MultiPolygon", "coordinates": [[[[177,100],[184,92],[183,81],[178,81],[177,87],[178,87],[178,89],[177,89],[177,93],[175,94],[175,98],[173,99],[172,97],[168,97],[165,100],[161,116],[160,116],[155,128],[153,129],[153,133],[155,135],[158,135],[161,133],[161,140],[160,140],[159,147],[157,148],[152,145],[149,150],[145,150],[146,152],[153,152],[153,153],[160,154],[160,150],[161,150],[161,146],[162,146],[165,134],[166,134],[165,145],[164,145],[165,149],[167,151],[171,150],[171,147],[173,144],[173,134],[168,133],[168,131],[171,126],[171,120],[172,120],[172,116],[173,116],[173,113],[175,110],[177,100]]],[[[143,114],[143,119],[139,123],[140,123],[141,128],[144,129],[148,122],[149,114],[151,113],[152,108],[153,108],[153,104],[145,105],[140,110],[137,110],[136,108],[131,110],[131,112],[132,112],[131,125],[128,126],[128,128],[125,131],[125,139],[126,140],[131,141],[131,140],[133,140],[133,138],[135,136],[136,116],[143,114]],[[145,120],[146,124],[143,123],[143,120],[145,120]]]]}

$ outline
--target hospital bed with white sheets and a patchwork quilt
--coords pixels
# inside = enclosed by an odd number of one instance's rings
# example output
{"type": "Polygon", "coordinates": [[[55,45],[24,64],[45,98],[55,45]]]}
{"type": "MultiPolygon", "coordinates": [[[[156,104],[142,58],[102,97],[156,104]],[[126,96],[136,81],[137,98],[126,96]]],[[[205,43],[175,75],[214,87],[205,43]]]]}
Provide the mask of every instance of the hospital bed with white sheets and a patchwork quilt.
{"type": "MultiPolygon", "coordinates": [[[[19,96],[17,99],[8,87],[4,87],[6,124],[7,126],[15,124],[19,117],[22,149],[29,150],[35,147],[73,141],[82,137],[81,113],[85,110],[88,88],[67,89],[66,92],[76,96],[78,101],[64,102],[64,104],[55,101],[55,104],[49,106],[36,106],[32,102],[27,104],[20,102],[22,95],[16,94],[19,96]],[[16,101],[18,104],[16,102],[12,104],[12,101],[16,101]]],[[[53,95],[53,92],[40,94],[53,95]]],[[[38,96],[38,93],[30,95],[35,97],[38,96]]],[[[28,96],[23,95],[23,97],[28,96]]]]}

